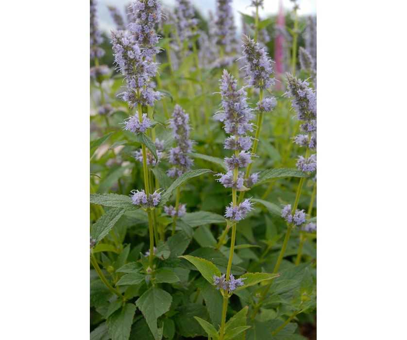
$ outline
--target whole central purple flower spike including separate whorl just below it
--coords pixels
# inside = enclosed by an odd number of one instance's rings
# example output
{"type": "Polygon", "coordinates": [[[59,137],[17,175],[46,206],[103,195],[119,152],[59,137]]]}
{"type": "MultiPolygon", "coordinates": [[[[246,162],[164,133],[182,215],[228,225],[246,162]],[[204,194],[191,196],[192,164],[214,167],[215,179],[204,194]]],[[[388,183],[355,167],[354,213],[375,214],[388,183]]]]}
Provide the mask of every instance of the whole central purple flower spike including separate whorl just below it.
{"type": "MultiPolygon", "coordinates": [[[[243,88],[237,89],[237,80],[226,70],[223,70],[220,80],[220,95],[223,111],[217,112],[214,118],[224,123],[226,133],[233,135],[226,138],[223,145],[225,149],[235,150],[235,154],[224,158],[228,171],[225,174],[218,173],[216,176],[220,178],[217,181],[224,187],[240,190],[245,184],[244,173],[240,171],[235,179],[232,170],[247,167],[253,162],[253,154],[247,152],[252,146],[252,137],[247,136],[247,132],[253,131],[253,114],[247,104],[246,92],[243,88]]],[[[247,184],[253,185],[256,181],[257,173],[247,179],[247,184]]],[[[231,221],[240,221],[252,209],[251,204],[249,200],[238,205],[231,203],[226,208],[225,217],[229,217],[231,221]]]]}

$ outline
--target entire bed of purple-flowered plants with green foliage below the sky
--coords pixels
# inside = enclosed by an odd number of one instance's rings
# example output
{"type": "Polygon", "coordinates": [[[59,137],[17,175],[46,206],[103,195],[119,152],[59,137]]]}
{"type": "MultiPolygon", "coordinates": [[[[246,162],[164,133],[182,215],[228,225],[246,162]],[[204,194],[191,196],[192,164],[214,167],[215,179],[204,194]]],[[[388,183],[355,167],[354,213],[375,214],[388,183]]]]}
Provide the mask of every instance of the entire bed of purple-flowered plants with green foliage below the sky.
{"type": "Polygon", "coordinates": [[[252,1],[235,39],[230,2],[204,31],[189,1],[138,0],[103,52],[90,1],[93,340],[300,340],[316,322],[309,44],[296,61],[315,27],[284,32],[252,1]]]}

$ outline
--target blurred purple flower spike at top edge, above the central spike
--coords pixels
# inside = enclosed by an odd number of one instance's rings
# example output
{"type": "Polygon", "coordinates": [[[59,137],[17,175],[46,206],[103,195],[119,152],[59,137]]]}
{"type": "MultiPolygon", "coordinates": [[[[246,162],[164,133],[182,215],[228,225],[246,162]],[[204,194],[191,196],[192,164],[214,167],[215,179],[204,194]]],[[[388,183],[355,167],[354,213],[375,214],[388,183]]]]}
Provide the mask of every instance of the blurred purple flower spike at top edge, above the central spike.
{"type": "Polygon", "coordinates": [[[217,0],[216,44],[226,53],[237,51],[236,26],[232,11],[232,0],[217,0]]]}

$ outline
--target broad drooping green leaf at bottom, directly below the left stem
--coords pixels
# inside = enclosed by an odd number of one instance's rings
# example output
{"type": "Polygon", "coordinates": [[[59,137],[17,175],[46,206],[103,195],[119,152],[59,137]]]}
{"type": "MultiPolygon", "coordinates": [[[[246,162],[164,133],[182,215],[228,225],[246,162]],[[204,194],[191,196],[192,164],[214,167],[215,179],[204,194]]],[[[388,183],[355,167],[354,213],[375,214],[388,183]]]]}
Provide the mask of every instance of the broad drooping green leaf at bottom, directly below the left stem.
{"type": "Polygon", "coordinates": [[[157,327],[157,319],[170,310],[172,297],[163,289],[152,287],[141,295],[136,306],[141,310],[155,340],[161,340],[163,328],[157,327]]]}

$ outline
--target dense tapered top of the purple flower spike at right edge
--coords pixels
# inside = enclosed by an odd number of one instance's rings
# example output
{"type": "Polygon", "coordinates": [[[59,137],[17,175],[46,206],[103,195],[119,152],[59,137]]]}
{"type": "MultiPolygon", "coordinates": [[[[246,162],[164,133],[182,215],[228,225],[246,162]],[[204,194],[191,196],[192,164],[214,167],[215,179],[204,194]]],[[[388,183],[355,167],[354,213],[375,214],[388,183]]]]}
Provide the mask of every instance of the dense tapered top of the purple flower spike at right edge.
{"type": "Polygon", "coordinates": [[[286,73],[288,79],[288,90],[292,98],[292,107],[297,113],[297,119],[310,121],[317,118],[317,96],[309,83],[297,79],[290,73],[286,73]]]}

